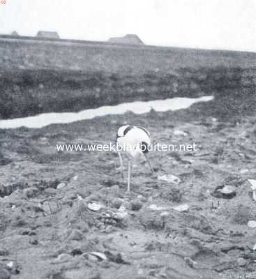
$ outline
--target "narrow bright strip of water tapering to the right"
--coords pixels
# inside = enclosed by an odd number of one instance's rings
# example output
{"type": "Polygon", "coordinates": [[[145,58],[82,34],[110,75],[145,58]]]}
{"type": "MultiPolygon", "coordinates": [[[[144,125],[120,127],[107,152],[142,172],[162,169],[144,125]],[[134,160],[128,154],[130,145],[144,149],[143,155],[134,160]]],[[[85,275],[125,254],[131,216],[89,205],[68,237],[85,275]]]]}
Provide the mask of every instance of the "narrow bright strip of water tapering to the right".
{"type": "Polygon", "coordinates": [[[195,103],[209,102],[213,96],[202,96],[200,98],[170,98],[165,100],[137,101],[131,103],[121,103],[119,105],[108,105],[96,109],[82,110],[81,112],[50,112],[38,114],[36,116],[22,117],[16,119],[0,120],[0,129],[20,128],[42,128],[50,124],[72,123],[84,119],[93,119],[96,116],[106,116],[108,114],[123,114],[134,112],[144,114],[150,112],[151,108],[156,112],[166,112],[167,110],[181,110],[190,107],[195,103]]]}

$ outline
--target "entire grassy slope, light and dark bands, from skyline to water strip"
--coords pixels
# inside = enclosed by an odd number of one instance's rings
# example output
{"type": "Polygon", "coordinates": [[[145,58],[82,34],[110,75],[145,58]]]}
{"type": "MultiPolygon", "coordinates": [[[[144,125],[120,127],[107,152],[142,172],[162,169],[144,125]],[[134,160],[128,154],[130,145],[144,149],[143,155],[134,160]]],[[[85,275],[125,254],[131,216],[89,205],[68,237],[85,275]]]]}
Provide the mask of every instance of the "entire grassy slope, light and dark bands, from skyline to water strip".
{"type": "Polygon", "coordinates": [[[1,119],[209,93],[239,100],[255,84],[255,53],[0,38],[1,119]]]}

